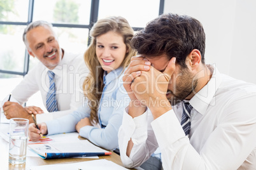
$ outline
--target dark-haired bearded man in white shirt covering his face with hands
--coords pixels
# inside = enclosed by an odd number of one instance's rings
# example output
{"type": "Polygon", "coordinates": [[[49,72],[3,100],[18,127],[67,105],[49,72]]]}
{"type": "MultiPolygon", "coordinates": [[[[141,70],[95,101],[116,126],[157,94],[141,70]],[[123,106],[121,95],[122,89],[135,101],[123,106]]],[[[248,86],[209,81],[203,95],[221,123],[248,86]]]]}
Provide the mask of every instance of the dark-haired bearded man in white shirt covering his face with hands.
{"type": "Polygon", "coordinates": [[[132,46],[140,55],[123,77],[131,98],[118,132],[124,166],[159,147],[164,169],[255,169],[255,84],[204,63],[201,23],[160,15],[132,46]]]}

